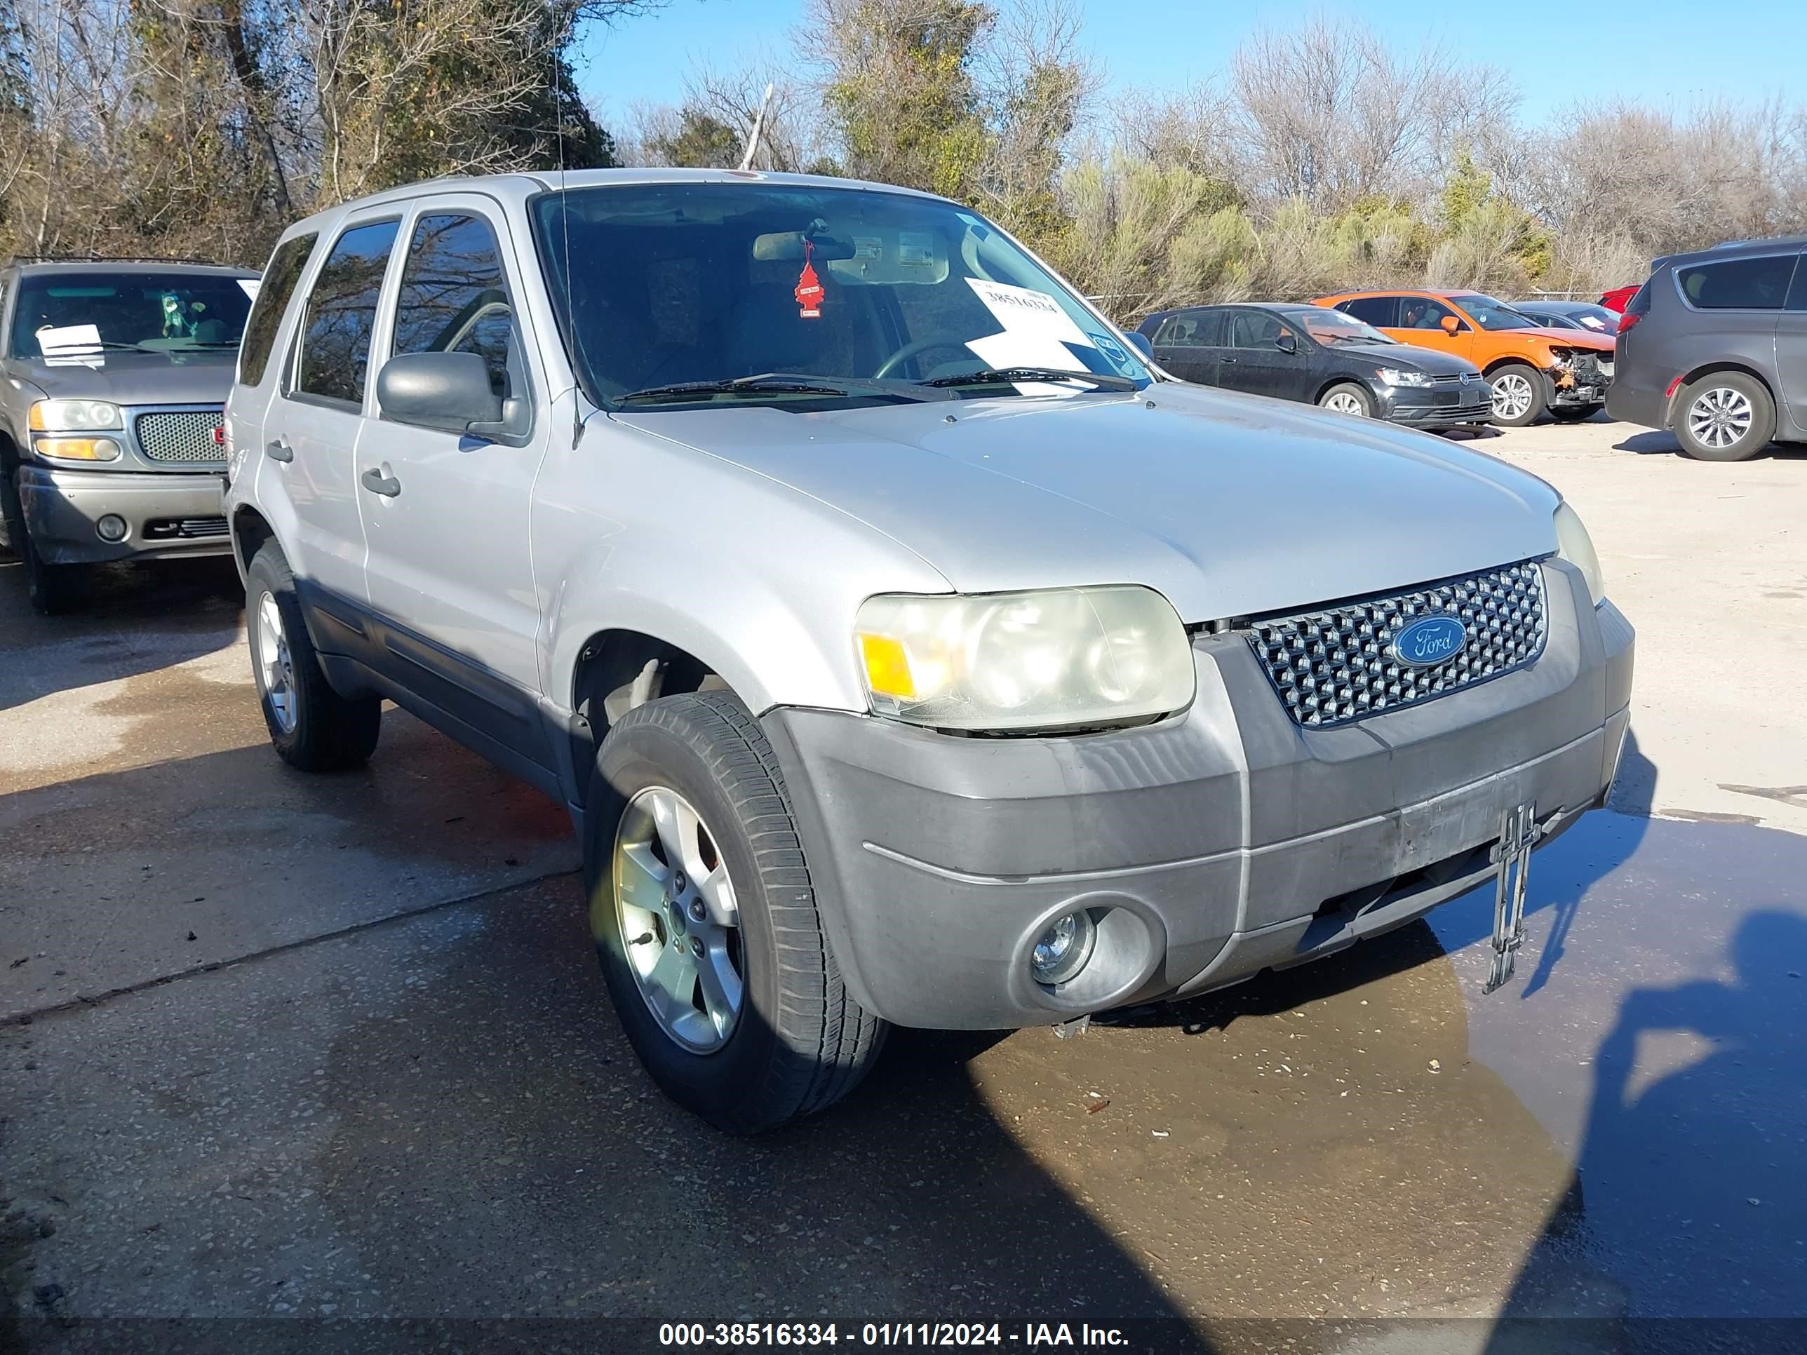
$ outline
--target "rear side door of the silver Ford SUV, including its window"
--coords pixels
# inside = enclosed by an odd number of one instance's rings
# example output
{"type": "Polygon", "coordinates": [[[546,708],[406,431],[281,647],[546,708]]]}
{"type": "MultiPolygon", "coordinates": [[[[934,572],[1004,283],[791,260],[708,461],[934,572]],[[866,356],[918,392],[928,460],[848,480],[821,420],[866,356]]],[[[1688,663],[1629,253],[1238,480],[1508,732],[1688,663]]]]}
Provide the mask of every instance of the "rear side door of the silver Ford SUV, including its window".
{"type": "MultiPolygon", "coordinates": [[[[291,567],[311,607],[367,602],[358,439],[370,343],[401,220],[394,208],[351,217],[309,285],[282,385],[264,417],[266,455],[295,509],[291,567]]],[[[267,493],[264,472],[260,493],[267,493]]]]}

